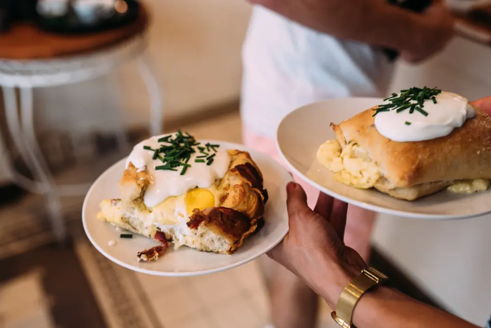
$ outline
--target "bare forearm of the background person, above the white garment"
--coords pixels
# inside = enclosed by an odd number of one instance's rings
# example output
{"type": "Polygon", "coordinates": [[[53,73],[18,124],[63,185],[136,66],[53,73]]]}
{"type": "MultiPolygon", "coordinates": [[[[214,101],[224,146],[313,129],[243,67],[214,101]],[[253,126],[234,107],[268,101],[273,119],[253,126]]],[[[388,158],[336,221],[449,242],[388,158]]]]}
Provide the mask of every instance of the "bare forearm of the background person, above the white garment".
{"type": "Polygon", "coordinates": [[[338,38],[407,50],[418,42],[420,15],[382,0],[251,0],[338,38]]]}

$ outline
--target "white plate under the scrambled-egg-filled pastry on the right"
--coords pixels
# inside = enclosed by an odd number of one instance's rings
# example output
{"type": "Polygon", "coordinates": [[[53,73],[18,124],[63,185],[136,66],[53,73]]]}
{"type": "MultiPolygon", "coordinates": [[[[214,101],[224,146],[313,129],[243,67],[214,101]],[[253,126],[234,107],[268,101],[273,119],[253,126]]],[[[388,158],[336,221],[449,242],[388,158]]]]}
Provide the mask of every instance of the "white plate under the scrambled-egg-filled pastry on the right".
{"type": "MultiPolygon", "coordinates": [[[[346,98],[314,103],[286,116],[277,131],[277,146],[288,166],[321,191],[356,206],[377,212],[424,219],[457,219],[491,212],[491,192],[459,195],[441,191],[414,202],[361,190],[334,180],[316,159],[319,146],[335,139],[331,122],[340,123],[382,103],[379,98],[346,98]]],[[[491,163],[490,163],[491,165],[491,163]]]]}

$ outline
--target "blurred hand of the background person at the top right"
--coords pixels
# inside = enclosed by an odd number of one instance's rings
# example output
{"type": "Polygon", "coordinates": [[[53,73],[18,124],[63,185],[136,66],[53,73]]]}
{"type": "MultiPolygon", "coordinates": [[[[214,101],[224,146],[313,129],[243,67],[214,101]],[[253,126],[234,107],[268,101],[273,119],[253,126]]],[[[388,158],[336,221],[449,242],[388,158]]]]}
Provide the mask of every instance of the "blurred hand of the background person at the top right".
{"type": "Polygon", "coordinates": [[[452,13],[441,3],[432,5],[418,15],[418,20],[421,28],[408,31],[414,33],[413,39],[408,42],[408,49],[401,50],[401,58],[409,62],[418,62],[435,55],[455,34],[452,13]]]}

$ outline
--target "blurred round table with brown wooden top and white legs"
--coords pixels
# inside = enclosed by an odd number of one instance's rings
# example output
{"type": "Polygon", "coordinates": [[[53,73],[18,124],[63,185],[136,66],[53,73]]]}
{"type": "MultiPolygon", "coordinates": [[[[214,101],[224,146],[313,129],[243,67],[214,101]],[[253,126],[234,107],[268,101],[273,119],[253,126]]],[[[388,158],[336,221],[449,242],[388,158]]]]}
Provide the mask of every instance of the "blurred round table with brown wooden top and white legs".
{"type": "MultiPolygon", "coordinates": [[[[53,233],[58,241],[66,236],[60,197],[84,194],[88,184],[55,184],[36,140],[33,88],[95,79],[129,60],[136,60],[150,97],[150,133],[161,134],[162,96],[145,56],[148,25],[148,12],[141,5],[135,22],[99,33],[60,35],[39,30],[33,24],[17,23],[8,32],[0,34],[0,86],[7,127],[15,147],[34,176],[32,180],[13,172],[13,179],[23,188],[46,197],[53,233]]],[[[124,126],[117,134],[119,145],[127,147],[124,126]]]]}

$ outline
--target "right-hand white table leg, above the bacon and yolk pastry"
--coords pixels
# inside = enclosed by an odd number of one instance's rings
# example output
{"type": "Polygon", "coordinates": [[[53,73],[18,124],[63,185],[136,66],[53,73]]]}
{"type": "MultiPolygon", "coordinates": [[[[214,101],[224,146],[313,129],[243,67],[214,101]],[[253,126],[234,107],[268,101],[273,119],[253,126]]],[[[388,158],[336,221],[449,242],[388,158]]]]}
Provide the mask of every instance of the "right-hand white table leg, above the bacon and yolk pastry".
{"type": "Polygon", "coordinates": [[[136,64],[150,97],[150,135],[160,135],[164,126],[160,83],[153,73],[152,64],[147,55],[143,54],[138,57],[136,64]]]}

